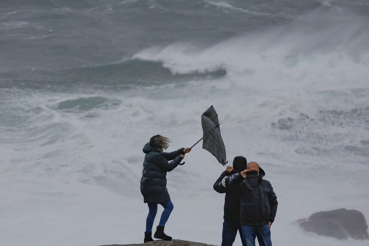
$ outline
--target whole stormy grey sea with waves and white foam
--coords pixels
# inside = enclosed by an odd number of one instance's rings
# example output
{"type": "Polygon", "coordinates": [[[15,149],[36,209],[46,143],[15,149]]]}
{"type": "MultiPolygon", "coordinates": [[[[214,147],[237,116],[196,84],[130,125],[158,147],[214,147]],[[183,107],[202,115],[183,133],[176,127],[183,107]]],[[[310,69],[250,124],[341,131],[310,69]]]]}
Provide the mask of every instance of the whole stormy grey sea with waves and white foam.
{"type": "MultiPolygon", "coordinates": [[[[229,163],[273,185],[274,245],[369,245],[294,223],[369,220],[366,0],[2,0],[0,244],[142,243],[142,147],[192,146],[211,105],[229,163]]],[[[166,233],[220,245],[225,167],[201,143],[184,161],[166,233]]]]}

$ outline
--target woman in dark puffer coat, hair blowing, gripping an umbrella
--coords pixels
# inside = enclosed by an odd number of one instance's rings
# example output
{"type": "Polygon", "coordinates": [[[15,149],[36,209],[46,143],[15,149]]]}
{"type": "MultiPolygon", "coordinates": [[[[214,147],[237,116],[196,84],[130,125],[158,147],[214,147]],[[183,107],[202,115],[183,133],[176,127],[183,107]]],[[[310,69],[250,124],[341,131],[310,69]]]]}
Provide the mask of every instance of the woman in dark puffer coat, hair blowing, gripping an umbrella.
{"type": "Polygon", "coordinates": [[[179,150],[165,153],[163,150],[169,147],[170,140],[161,135],[151,137],[150,142],[145,145],[142,151],[145,153],[144,170],[141,178],[141,193],[144,202],[149,206],[149,214],[146,219],[146,231],[144,243],[153,241],[152,226],[158,211],[158,204],[162,205],[164,211],[161,215],[159,226],[156,227],[154,238],[172,240],[165,235],[164,226],[173,210],[168,189],[166,188],[166,172],[172,171],[184,158],[185,153],[189,153],[191,148],[180,148],[179,150]],[[172,162],[168,163],[168,161],[172,162]]]}

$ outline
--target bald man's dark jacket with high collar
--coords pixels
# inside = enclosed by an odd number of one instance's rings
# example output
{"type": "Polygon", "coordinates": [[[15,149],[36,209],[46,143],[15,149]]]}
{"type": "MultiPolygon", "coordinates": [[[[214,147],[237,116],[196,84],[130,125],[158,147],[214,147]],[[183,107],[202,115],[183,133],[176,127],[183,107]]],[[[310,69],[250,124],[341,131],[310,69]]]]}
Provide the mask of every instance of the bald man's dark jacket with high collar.
{"type": "Polygon", "coordinates": [[[269,181],[262,175],[244,179],[237,175],[228,183],[229,188],[239,190],[241,225],[264,226],[274,222],[277,212],[277,197],[269,181]]]}

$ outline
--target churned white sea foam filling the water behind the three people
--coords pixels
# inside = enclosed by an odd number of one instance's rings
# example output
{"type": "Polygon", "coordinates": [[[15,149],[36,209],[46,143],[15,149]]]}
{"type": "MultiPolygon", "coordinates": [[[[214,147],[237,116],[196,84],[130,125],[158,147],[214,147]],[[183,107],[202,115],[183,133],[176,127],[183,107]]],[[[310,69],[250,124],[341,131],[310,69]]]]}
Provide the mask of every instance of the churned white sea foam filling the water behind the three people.
{"type": "MultiPolygon", "coordinates": [[[[365,109],[365,91],[317,93],[284,86],[273,92],[219,80],[186,87],[152,87],[138,95],[101,91],[19,96],[7,100],[7,105],[9,110],[17,110],[20,125],[3,128],[6,139],[12,141],[1,144],[1,156],[7,163],[0,192],[5,243],[18,245],[30,238],[34,242],[28,242],[30,245],[141,242],[147,212],[139,192],[143,145],[160,133],[173,140],[170,150],[190,146],[201,137],[200,115],[211,104],[220,117],[228,161],[244,154],[249,161],[258,161],[272,182],[280,203],[272,228],[275,244],[355,245],[355,241],[303,233],[293,222],[316,211],[341,207],[369,216],[365,186],[368,152],[344,149],[352,144],[359,148],[357,140],[369,139],[360,117],[359,125],[351,123],[358,113],[349,112],[365,109]],[[92,106],[83,109],[76,103],[70,110],[70,102],[96,96],[120,103],[101,107],[90,102],[92,106]],[[58,109],[67,101],[70,107],[58,109]],[[339,118],[334,112],[320,112],[335,105],[348,110],[348,115],[339,118]],[[283,123],[287,118],[292,123],[283,123]],[[330,118],[337,125],[327,121],[330,118]],[[23,134],[15,127],[23,129],[23,134]],[[350,162],[355,184],[342,182],[346,172],[342,162],[350,162]],[[35,220],[38,226],[31,235],[26,228],[35,220]]],[[[201,150],[201,143],[185,161],[183,167],[168,174],[175,204],[168,234],[219,244],[223,196],[211,185],[223,168],[201,150]],[[198,233],[199,228],[205,228],[206,238],[198,233]]]]}

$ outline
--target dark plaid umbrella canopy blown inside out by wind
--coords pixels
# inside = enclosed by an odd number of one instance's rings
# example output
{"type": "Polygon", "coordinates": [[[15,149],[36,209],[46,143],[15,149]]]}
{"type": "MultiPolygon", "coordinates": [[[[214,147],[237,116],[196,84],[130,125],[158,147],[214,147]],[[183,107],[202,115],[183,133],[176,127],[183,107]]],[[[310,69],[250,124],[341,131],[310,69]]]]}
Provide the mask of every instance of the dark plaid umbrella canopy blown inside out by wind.
{"type": "Polygon", "coordinates": [[[220,164],[225,165],[227,163],[225,146],[220,135],[218,114],[213,105],[201,115],[201,124],[203,126],[203,149],[217,158],[220,164]]]}

